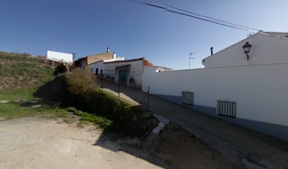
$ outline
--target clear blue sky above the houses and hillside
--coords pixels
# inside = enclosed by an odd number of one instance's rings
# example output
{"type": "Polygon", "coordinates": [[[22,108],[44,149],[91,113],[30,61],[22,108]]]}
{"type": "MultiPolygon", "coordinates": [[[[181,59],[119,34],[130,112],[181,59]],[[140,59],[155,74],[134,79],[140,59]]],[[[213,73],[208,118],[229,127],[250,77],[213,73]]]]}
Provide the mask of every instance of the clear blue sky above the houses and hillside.
{"type": "MultiPolygon", "coordinates": [[[[288,32],[288,1],[178,0],[166,3],[258,30],[288,32]]],[[[249,32],[127,0],[1,0],[0,51],[46,55],[47,50],[100,54],[107,46],[126,59],[146,57],[155,65],[191,68],[249,32]]]]}

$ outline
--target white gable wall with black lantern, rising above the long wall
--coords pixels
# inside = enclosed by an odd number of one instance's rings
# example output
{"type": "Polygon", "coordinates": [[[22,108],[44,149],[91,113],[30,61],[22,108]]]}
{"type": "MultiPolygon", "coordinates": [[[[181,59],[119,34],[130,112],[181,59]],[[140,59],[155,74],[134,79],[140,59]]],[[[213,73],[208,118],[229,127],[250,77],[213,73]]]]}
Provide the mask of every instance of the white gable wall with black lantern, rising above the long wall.
{"type": "Polygon", "coordinates": [[[288,39],[260,33],[205,58],[205,68],[272,63],[288,63],[288,39]],[[252,45],[248,61],[242,47],[246,42],[252,45]]]}

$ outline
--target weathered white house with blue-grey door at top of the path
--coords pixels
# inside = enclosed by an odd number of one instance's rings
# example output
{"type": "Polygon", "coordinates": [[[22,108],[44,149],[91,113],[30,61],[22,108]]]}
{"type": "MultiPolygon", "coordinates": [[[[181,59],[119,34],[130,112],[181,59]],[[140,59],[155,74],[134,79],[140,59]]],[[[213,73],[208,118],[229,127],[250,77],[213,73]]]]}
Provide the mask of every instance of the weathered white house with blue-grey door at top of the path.
{"type": "Polygon", "coordinates": [[[103,74],[103,77],[108,80],[136,89],[141,89],[143,70],[147,67],[155,68],[158,71],[172,70],[170,68],[155,66],[146,58],[117,61],[102,60],[88,65],[88,68],[96,75],[103,74]]]}

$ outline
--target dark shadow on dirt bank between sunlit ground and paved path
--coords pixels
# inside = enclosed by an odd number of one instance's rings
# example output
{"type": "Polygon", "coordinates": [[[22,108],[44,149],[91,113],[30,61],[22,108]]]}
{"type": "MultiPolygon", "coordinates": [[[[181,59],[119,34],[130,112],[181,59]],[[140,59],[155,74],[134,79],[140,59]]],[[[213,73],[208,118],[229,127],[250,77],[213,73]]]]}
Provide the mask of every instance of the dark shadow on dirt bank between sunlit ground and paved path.
{"type": "Polygon", "coordinates": [[[158,134],[150,133],[145,139],[104,131],[93,145],[124,151],[161,168],[241,168],[174,124],[166,125],[158,134]]]}

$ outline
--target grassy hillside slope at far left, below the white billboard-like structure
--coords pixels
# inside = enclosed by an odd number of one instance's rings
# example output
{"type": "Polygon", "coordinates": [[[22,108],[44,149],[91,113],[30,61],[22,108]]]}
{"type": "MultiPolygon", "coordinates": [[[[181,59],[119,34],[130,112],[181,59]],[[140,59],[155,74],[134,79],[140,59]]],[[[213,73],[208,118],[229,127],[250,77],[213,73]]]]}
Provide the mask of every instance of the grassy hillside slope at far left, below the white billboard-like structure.
{"type": "Polygon", "coordinates": [[[52,80],[52,73],[44,58],[0,52],[0,90],[37,88],[52,80]]]}

